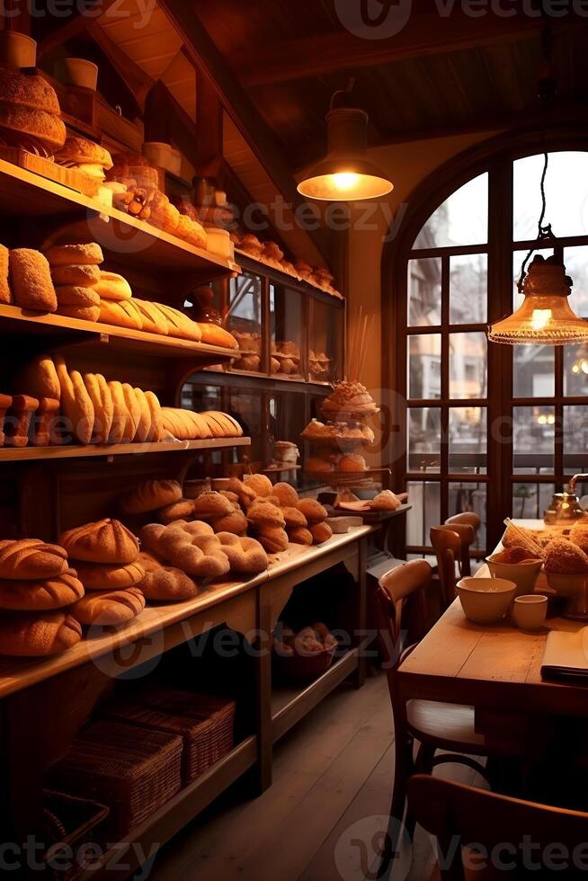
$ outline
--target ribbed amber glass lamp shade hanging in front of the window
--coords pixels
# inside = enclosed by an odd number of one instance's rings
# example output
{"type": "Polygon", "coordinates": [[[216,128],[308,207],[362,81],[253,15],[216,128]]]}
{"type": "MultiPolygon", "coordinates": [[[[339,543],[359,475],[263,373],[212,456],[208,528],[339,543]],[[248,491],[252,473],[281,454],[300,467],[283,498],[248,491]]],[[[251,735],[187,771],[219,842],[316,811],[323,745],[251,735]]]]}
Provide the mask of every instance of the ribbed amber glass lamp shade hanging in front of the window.
{"type": "Polygon", "coordinates": [[[575,315],[568,297],[573,281],[555,255],[538,254],[530,265],[514,315],[492,325],[488,339],[510,345],[568,345],[588,341],[588,321],[575,315]]]}

